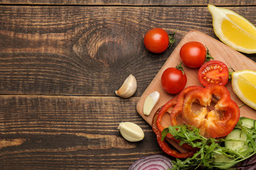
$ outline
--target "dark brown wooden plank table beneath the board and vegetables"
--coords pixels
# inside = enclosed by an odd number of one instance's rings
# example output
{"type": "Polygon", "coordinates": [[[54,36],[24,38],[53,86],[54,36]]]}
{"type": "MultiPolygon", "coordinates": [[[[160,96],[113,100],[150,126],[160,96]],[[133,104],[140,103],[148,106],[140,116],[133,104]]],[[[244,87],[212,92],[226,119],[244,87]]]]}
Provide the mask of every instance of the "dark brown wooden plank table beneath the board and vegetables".
{"type": "MultiPolygon", "coordinates": [[[[217,1],[256,25],[256,1],[217,1]]],[[[189,30],[218,40],[207,4],[194,1],[0,0],[0,169],[128,169],[163,154],[137,113],[139,97],[189,30]],[[176,42],[154,55],[151,28],[176,42]],[[129,74],[132,98],[119,98],[129,74]],[[141,142],[117,126],[137,123],[141,142]]],[[[256,61],[256,55],[246,55],[256,61]]]]}

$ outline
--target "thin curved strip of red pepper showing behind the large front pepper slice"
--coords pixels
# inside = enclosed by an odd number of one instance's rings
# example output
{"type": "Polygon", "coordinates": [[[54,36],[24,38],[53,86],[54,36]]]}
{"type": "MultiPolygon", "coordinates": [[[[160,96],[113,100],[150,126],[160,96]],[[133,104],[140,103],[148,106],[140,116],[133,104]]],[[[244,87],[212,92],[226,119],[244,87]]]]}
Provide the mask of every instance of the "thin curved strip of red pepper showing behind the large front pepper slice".
{"type": "Polygon", "coordinates": [[[174,108],[171,110],[171,114],[170,114],[171,125],[173,125],[173,126],[178,125],[176,118],[182,112],[184,98],[186,97],[186,94],[188,94],[189,91],[193,91],[195,89],[203,89],[203,87],[188,86],[185,89],[183,89],[180,94],[178,94],[176,106],[174,106],[174,108]]]}

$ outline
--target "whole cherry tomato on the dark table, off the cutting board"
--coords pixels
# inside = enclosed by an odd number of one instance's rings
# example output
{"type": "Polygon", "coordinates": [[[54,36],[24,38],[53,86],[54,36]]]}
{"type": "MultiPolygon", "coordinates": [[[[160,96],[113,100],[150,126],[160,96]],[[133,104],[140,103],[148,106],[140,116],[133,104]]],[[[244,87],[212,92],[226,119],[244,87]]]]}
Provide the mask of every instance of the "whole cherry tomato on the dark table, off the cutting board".
{"type": "Polygon", "coordinates": [[[144,36],[144,45],[150,52],[164,52],[169,45],[168,33],[162,28],[153,28],[144,36]]]}

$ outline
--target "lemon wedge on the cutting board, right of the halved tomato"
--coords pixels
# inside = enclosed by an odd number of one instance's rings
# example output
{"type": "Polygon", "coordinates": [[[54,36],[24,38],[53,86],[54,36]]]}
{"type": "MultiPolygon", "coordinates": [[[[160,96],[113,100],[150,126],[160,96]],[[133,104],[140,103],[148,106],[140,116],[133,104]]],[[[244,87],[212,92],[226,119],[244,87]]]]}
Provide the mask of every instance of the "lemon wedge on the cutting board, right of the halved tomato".
{"type": "Polygon", "coordinates": [[[256,109],[256,72],[243,69],[232,73],[235,94],[248,106],[256,109]]]}

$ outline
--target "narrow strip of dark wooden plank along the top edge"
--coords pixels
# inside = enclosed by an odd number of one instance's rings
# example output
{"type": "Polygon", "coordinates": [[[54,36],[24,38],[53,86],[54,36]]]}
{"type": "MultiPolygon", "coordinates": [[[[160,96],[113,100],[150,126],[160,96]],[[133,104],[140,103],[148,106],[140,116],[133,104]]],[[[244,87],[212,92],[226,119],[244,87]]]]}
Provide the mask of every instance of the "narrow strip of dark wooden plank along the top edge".
{"type": "Polygon", "coordinates": [[[239,1],[239,0],[163,0],[163,1],[137,1],[137,0],[126,0],[126,1],[112,1],[112,0],[98,0],[98,1],[87,1],[87,0],[0,0],[0,4],[25,4],[25,5],[93,5],[93,6],[207,6],[208,4],[214,4],[218,6],[253,6],[256,5],[255,1],[239,1]]]}

